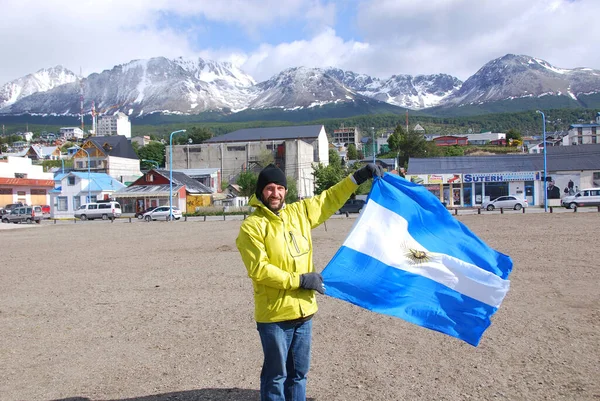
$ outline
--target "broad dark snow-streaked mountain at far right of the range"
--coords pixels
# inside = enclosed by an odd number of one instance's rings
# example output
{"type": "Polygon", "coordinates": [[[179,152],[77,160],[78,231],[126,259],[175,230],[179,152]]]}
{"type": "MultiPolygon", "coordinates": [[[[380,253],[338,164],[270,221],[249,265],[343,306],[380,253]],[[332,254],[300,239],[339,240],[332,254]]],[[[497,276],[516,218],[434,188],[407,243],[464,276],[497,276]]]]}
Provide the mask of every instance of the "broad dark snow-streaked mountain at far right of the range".
{"type": "Polygon", "coordinates": [[[507,54],[485,64],[446,100],[446,105],[486,103],[524,97],[600,92],[600,71],[557,68],[537,58],[507,54]]]}

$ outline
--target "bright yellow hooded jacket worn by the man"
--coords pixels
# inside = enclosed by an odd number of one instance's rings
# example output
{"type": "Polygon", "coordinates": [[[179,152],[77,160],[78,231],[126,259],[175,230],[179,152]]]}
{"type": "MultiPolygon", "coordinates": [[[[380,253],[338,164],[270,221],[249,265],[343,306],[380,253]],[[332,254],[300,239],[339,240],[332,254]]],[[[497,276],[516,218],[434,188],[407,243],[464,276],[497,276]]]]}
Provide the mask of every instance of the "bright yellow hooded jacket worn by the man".
{"type": "Polygon", "coordinates": [[[300,275],[314,271],[311,229],[346,202],[357,185],[350,177],[320,195],[285,205],[279,215],[256,196],[256,208],[236,244],[254,284],[254,316],[259,323],[281,322],[317,312],[313,290],[300,288],[300,275]]]}

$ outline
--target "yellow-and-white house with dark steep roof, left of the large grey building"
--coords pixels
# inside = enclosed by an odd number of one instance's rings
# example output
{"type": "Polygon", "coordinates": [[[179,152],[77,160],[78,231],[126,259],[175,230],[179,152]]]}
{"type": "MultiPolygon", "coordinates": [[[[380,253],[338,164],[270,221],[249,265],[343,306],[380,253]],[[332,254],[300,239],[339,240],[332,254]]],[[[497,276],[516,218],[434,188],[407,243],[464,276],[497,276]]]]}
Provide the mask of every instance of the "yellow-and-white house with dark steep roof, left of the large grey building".
{"type": "Polygon", "coordinates": [[[78,171],[89,170],[106,173],[128,183],[142,176],[140,159],[131,142],[122,135],[92,136],[73,155],[73,167],[78,171]]]}

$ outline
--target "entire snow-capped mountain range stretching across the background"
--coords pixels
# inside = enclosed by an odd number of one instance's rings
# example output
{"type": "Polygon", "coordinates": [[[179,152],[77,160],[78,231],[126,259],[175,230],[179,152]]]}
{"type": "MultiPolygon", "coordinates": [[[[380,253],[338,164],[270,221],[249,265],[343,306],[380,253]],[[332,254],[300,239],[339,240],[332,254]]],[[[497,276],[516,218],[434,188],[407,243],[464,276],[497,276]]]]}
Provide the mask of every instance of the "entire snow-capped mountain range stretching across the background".
{"type": "MultiPolygon", "coordinates": [[[[37,78],[31,74],[0,89],[1,114],[80,113],[80,83],[75,74],[62,67],[42,71],[36,73],[37,78]],[[61,79],[65,81],[62,84],[61,79]]],[[[92,102],[101,114],[120,110],[134,117],[296,110],[356,102],[374,105],[375,109],[385,103],[423,109],[526,97],[568,97],[570,102],[579,102],[580,96],[600,93],[600,71],[561,69],[540,59],[508,54],[490,61],[465,82],[447,74],[399,74],[380,79],[338,68],[295,67],[256,83],[231,63],[157,57],[91,74],[81,80],[81,87],[86,114],[92,102]]]]}

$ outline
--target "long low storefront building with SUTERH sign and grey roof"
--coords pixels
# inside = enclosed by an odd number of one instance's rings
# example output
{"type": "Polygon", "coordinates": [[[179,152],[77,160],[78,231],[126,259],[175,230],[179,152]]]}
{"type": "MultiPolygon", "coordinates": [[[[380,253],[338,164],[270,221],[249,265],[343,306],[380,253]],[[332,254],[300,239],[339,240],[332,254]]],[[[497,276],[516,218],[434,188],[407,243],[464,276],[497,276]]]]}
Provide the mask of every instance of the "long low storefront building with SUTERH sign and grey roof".
{"type": "Polygon", "coordinates": [[[542,154],[411,158],[406,178],[449,206],[477,206],[509,194],[543,205],[545,191],[549,205],[560,204],[569,187],[600,183],[600,145],[548,147],[546,159],[547,185],[542,154]]]}

